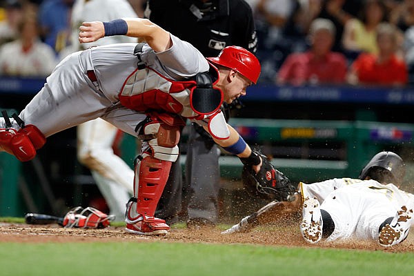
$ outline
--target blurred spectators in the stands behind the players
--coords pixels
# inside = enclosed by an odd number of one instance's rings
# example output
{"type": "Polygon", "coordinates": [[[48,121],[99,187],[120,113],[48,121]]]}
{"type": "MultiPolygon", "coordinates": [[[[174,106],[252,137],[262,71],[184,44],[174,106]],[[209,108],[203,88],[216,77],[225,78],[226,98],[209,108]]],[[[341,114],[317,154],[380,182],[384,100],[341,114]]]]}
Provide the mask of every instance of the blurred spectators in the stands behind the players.
{"type": "MultiPolygon", "coordinates": [[[[261,83],[414,84],[414,0],[246,1],[261,83]]],[[[0,75],[48,76],[73,51],[74,2],[0,1],[0,75]]],[[[129,2],[144,17],[146,0],[129,2]]]]}

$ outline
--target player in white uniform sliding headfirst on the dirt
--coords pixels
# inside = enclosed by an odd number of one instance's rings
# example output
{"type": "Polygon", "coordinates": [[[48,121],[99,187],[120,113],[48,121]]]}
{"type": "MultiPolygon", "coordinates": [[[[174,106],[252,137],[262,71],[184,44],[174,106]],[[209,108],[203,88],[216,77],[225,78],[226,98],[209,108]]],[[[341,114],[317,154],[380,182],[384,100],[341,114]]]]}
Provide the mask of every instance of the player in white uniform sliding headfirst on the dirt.
{"type": "Polygon", "coordinates": [[[222,234],[248,232],[302,209],[302,236],[312,244],[322,238],[333,241],[351,237],[373,239],[382,246],[399,244],[413,224],[414,195],[398,188],[404,167],[395,153],[380,152],[364,167],[359,179],[301,182],[292,201],[272,201],[222,234]]]}

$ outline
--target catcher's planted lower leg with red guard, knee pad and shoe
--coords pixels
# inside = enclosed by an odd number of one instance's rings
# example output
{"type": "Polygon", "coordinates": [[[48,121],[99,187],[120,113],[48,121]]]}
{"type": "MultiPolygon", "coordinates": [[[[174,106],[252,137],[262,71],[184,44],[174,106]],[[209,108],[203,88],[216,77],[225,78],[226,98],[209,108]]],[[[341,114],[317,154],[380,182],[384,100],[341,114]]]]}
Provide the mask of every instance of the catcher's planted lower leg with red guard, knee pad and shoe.
{"type": "Polygon", "coordinates": [[[126,230],[141,235],[164,235],[170,227],[154,217],[159,198],[178,157],[178,141],[184,121],[168,113],[152,112],[137,126],[146,153],[135,165],[134,197],[127,204],[126,230]]]}

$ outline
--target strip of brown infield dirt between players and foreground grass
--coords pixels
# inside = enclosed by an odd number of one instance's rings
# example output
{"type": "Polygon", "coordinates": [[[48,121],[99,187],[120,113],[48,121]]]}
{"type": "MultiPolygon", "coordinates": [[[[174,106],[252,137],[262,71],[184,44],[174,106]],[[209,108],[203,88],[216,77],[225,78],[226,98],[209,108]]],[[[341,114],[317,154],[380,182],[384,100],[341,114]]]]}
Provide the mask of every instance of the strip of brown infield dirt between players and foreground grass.
{"type": "MultiPolygon", "coordinates": [[[[27,224],[0,224],[0,242],[194,242],[213,244],[260,244],[266,246],[306,246],[299,233],[293,226],[285,228],[268,227],[253,230],[250,233],[237,233],[221,235],[218,228],[203,229],[174,229],[162,237],[142,237],[126,233],[121,227],[108,227],[106,229],[66,229],[55,224],[47,226],[32,226],[27,224]]],[[[414,235],[402,244],[392,248],[382,248],[375,242],[321,242],[316,245],[324,248],[348,248],[359,250],[386,250],[388,252],[414,252],[414,235]]]]}

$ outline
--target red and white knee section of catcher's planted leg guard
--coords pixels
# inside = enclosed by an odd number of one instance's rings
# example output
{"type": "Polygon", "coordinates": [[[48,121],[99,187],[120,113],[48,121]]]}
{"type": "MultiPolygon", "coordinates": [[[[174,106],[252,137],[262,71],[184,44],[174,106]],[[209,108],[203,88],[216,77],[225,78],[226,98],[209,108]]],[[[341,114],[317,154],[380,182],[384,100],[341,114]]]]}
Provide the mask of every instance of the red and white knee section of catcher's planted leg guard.
{"type": "Polygon", "coordinates": [[[178,142],[183,119],[168,113],[151,113],[148,115],[139,137],[148,141],[152,156],[165,161],[175,162],[178,158],[178,142]]]}

